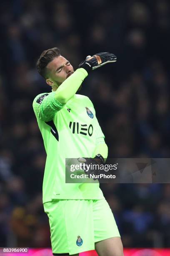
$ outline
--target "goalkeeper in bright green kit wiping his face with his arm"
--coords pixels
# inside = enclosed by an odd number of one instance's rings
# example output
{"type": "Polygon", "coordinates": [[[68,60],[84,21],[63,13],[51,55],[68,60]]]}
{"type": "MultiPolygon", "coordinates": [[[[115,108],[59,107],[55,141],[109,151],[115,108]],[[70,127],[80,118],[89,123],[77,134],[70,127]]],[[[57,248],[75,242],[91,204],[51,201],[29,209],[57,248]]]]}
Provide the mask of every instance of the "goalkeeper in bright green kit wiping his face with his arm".
{"type": "Polygon", "coordinates": [[[95,249],[100,256],[123,256],[120,234],[99,183],[65,183],[66,158],[95,164],[107,158],[92,102],[76,92],[93,69],[115,61],[108,52],[87,56],[74,72],[58,48],[43,51],[37,61],[39,74],[52,89],[35,97],[33,109],[47,153],[42,200],[53,255],[95,249]]]}

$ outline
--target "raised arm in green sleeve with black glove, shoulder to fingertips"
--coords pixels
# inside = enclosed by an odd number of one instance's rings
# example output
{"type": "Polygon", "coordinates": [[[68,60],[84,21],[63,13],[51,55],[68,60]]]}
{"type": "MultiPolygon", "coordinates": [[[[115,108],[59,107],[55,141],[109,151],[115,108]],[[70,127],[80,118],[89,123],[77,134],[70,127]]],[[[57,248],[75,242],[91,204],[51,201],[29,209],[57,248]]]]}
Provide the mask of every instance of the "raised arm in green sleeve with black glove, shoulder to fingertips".
{"type": "Polygon", "coordinates": [[[116,56],[108,52],[95,54],[92,57],[87,56],[85,61],[82,61],[79,65],[79,68],[65,79],[55,92],[41,94],[35,98],[33,109],[36,117],[45,122],[52,120],[55,113],[61,110],[67,101],[75,95],[82,81],[91,70],[115,61],[116,56]]]}

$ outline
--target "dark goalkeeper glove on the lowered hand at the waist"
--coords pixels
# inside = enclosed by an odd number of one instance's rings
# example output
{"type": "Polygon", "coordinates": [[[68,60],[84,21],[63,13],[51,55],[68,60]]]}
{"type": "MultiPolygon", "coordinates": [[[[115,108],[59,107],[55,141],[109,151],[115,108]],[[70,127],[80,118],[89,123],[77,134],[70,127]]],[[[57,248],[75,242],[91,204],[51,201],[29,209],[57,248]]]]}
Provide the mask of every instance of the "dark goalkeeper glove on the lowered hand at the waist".
{"type": "MultiPolygon", "coordinates": [[[[105,160],[100,154],[97,154],[94,158],[79,157],[77,160],[80,163],[83,163],[84,172],[85,172],[85,174],[88,174],[88,175],[89,174],[92,174],[92,175],[100,174],[100,165],[105,164],[105,160]],[[95,165],[95,166],[93,166],[93,165],[95,165]]],[[[93,178],[93,179],[96,180],[96,178],[93,178]]]]}

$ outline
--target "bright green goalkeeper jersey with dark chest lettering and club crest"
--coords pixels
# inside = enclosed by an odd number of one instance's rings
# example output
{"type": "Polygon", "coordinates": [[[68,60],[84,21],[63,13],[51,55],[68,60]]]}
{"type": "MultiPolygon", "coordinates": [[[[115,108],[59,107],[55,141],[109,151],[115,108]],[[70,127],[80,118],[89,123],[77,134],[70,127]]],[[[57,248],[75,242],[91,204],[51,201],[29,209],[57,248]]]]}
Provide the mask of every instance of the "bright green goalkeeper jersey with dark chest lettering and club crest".
{"type": "Polygon", "coordinates": [[[35,97],[33,109],[42,133],[47,159],[43,179],[43,203],[52,199],[101,199],[99,183],[65,183],[65,159],[94,157],[105,136],[90,99],[75,94],[65,105],[55,92],[35,97]]]}

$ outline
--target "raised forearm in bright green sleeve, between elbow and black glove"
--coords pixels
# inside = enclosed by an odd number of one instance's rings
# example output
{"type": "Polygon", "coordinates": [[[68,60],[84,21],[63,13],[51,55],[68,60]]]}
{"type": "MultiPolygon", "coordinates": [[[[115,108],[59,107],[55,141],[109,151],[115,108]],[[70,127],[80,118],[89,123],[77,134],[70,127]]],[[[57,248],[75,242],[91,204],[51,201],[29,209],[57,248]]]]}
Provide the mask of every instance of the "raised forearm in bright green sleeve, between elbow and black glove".
{"type": "Polygon", "coordinates": [[[70,77],[68,77],[55,92],[55,99],[65,104],[70,100],[78,88],[82,84],[85,77],[87,77],[87,71],[85,69],[77,69],[70,77]]]}

